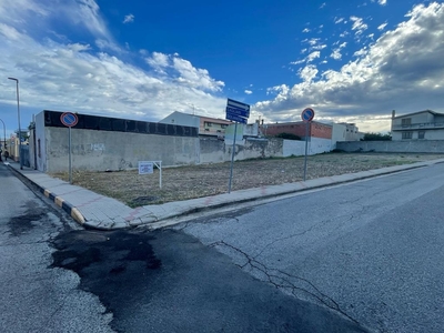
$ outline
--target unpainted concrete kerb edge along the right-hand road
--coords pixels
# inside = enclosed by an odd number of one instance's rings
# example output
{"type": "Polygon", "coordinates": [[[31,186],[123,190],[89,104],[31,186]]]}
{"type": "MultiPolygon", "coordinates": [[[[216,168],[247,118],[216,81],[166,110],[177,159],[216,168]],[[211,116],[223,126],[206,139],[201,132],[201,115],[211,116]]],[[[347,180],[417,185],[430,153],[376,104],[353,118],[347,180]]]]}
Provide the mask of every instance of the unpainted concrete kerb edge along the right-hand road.
{"type": "MultiPolygon", "coordinates": [[[[444,161],[436,162],[436,163],[444,163],[444,161]]],[[[141,219],[142,223],[139,224],[138,226],[142,226],[142,225],[143,226],[149,226],[150,224],[154,224],[157,222],[161,222],[161,221],[165,221],[165,220],[170,220],[170,219],[174,219],[174,218],[179,218],[179,216],[186,216],[186,215],[190,215],[190,214],[204,212],[204,211],[208,211],[208,210],[211,210],[211,209],[220,209],[220,208],[229,206],[229,205],[232,205],[232,204],[253,202],[253,201],[259,201],[259,200],[264,200],[264,199],[270,199],[270,198],[275,198],[275,196],[281,196],[281,195],[286,195],[286,194],[292,194],[292,193],[297,193],[297,192],[316,190],[316,189],[332,186],[332,185],[336,185],[336,184],[341,184],[341,183],[350,183],[350,182],[354,182],[354,181],[357,181],[357,180],[364,180],[364,179],[374,178],[374,176],[379,176],[379,175],[385,175],[385,174],[402,172],[402,171],[405,171],[405,170],[413,170],[413,169],[424,168],[424,167],[427,167],[427,165],[431,165],[431,164],[436,164],[436,163],[422,162],[422,164],[420,164],[420,165],[405,164],[405,165],[400,165],[400,168],[396,169],[396,170],[392,169],[392,170],[385,170],[385,171],[384,171],[384,169],[375,169],[375,170],[372,170],[372,172],[369,172],[370,174],[367,174],[367,175],[360,175],[360,176],[355,176],[353,179],[342,180],[342,181],[331,181],[329,184],[311,185],[311,186],[305,186],[305,188],[302,188],[302,189],[292,189],[292,190],[280,191],[279,193],[263,194],[261,196],[251,196],[251,198],[245,198],[245,199],[235,200],[235,201],[228,200],[225,202],[219,202],[219,203],[214,203],[214,204],[210,203],[210,204],[202,205],[202,206],[193,206],[193,208],[191,208],[189,210],[184,210],[182,212],[178,212],[176,214],[168,214],[168,216],[159,216],[158,219],[155,219],[155,221],[152,221],[152,220],[151,221],[143,221],[143,218],[142,218],[141,219]],[[377,172],[377,171],[380,171],[380,172],[377,172]]],[[[393,167],[389,167],[389,168],[393,168],[393,167]]],[[[350,173],[350,174],[352,175],[353,173],[350,173]]]]}

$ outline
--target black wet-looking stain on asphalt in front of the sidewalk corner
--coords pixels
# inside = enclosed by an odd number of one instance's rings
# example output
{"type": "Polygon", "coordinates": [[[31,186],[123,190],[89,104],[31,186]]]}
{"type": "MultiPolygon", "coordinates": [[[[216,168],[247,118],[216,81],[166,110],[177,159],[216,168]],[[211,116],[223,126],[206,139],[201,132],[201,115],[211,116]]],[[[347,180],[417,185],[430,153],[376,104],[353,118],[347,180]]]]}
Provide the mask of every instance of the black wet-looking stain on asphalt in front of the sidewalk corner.
{"type": "Polygon", "coordinates": [[[122,309],[131,306],[141,291],[162,274],[150,242],[154,238],[128,231],[77,230],[60,233],[53,241],[50,268],[62,268],[80,276],[79,289],[97,295],[112,313],[111,326],[123,317],[122,309]]]}

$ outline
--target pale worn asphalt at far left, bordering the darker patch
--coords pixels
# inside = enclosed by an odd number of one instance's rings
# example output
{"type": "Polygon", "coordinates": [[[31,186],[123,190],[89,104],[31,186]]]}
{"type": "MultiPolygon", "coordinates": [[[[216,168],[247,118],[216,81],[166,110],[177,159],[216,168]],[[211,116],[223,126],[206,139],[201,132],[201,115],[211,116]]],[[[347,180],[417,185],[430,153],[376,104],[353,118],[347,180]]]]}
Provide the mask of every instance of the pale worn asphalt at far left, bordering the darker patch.
{"type": "Polygon", "coordinates": [[[75,228],[63,221],[0,164],[0,332],[112,332],[112,314],[79,276],[51,268],[52,239],[75,228]]]}

